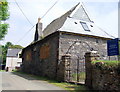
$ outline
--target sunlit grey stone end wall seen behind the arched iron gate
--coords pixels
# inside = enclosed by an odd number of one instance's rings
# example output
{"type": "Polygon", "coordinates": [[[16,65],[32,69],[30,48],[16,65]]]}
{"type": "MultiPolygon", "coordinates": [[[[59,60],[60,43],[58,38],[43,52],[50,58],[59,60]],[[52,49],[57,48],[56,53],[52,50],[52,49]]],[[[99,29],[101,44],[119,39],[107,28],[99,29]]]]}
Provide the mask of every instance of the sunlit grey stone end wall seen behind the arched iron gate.
{"type": "MultiPolygon", "coordinates": [[[[71,55],[70,62],[70,78],[68,77],[67,81],[79,81],[84,83],[85,77],[80,79],[78,74],[85,72],[85,53],[90,50],[98,51],[101,55],[101,59],[108,59],[107,57],[107,39],[95,38],[89,36],[83,36],[74,33],[60,32],[59,36],[59,64],[64,55],[71,55]],[[76,42],[78,41],[78,42],[76,42]],[[76,43],[75,43],[76,42],[76,43]],[[73,45],[74,44],[74,45],[73,45]],[[78,68],[78,59],[79,68],[78,68]],[[74,76],[75,75],[75,76],[74,76]],[[78,78],[77,78],[77,77],[78,78]]],[[[66,74],[68,75],[68,74],[66,74]]]]}

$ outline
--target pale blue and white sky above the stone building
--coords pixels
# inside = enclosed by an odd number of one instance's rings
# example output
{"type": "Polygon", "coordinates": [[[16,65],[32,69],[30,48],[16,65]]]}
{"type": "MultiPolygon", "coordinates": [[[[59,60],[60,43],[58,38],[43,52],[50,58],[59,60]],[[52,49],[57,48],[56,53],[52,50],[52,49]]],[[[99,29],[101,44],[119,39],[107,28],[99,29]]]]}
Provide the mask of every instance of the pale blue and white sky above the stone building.
{"type": "Polygon", "coordinates": [[[27,21],[15,0],[8,0],[10,18],[6,21],[9,24],[8,33],[1,44],[12,42],[23,47],[29,45],[35,34],[35,27],[29,31],[42,17],[46,11],[56,2],[55,6],[41,19],[43,29],[54,19],[74,7],[77,3],[83,2],[90,17],[97,26],[110,35],[118,37],[118,2],[119,0],[16,0],[27,21]]]}

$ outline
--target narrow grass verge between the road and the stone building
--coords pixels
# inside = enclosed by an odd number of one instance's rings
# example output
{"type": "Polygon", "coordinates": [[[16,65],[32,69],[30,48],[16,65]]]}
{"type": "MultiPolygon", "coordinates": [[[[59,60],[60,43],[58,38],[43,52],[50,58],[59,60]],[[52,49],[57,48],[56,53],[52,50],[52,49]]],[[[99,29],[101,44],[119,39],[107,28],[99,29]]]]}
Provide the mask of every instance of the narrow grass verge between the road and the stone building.
{"type": "Polygon", "coordinates": [[[53,84],[55,86],[61,87],[65,90],[68,90],[69,92],[89,92],[87,87],[85,87],[84,85],[76,85],[76,84],[71,84],[71,83],[66,83],[66,82],[58,82],[56,80],[51,80],[48,79],[46,77],[41,77],[41,76],[36,76],[36,75],[31,75],[31,74],[26,74],[23,72],[18,72],[18,71],[14,71],[15,73],[19,73],[19,74],[23,74],[32,78],[35,78],[37,80],[42,80],[42,81],[46,81],[50,84],[53,84]]]}

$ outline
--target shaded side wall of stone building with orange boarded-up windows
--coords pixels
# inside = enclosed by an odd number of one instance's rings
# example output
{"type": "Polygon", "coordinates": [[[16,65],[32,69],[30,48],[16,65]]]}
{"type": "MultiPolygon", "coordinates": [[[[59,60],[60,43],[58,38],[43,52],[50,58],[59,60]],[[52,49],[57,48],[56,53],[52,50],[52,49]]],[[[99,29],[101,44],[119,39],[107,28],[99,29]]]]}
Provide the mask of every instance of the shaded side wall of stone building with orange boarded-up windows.
{"type": "Polygon", "coordinates": [[[58,38],[59,33],[57,32],[24,48],[22,53],[22,71],[56,78],[58,38]]]}

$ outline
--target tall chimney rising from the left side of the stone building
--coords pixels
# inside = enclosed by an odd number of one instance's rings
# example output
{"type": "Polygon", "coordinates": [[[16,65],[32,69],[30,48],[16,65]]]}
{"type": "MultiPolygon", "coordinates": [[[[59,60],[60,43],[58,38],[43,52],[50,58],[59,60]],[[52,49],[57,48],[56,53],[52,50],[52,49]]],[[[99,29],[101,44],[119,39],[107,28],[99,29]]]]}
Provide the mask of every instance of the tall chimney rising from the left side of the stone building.
{"type": "Polygon", "coordinates": [[[41,18],[38,18],[38,23],[36,24],[36,31],[34,41],[41,40],[43,33],[42,33],[42,23],[40,22],[41,18]]]}

